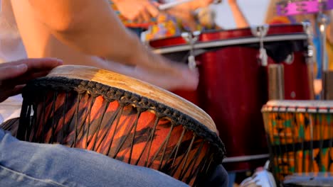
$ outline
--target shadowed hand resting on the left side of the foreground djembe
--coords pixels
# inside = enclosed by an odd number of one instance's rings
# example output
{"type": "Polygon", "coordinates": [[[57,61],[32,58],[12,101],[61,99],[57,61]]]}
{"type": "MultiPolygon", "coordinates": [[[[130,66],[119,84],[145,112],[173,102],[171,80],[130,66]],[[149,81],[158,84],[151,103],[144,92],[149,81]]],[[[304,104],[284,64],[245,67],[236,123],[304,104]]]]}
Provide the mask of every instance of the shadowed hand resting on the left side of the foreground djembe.
{"type": "Polygon", "coordinates": [[[20,94],[27,81],[46,76],[51,69],[62,63],[61,60],[44,58],[0,64],[0,102],[20,94]]]}

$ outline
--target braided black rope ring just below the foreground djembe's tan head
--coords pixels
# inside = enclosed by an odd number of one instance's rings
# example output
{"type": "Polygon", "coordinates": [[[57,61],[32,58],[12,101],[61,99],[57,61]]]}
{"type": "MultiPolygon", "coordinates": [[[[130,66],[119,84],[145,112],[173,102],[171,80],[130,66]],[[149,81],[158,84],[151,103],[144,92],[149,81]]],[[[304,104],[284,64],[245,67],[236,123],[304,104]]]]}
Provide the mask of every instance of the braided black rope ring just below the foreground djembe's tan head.
{"type": "MultiPolygon", "coordinates": [[[[208,133],[211,130],[208,130],[205,125],[196,125],[199,124],[198,121],[191,118],[189,115],[180,113],[179,111],[174,110],[168,106],[164,106],[162,103],[157,103],[152,99],[146,98],[144,96],[139,96],[133,94],[129,91],[122,89],[117,89],[112,86],[106,86],[104,84],[97,83],[95,81],[83,81],[81,79],[67,79],[64,77],[43,77],[31,81],[26,87],[23,94],[23,97],[29,93],[28,90],[36,91],[36,88],[43,87],[45,89],[62,89],[65,91],[75,90],[79,94],[85,92],[98,94],[98,96],[103,96],[109,101],[120,101],[120,104],[126,106],[128,104],[133,104],[135,107],[140,107],[144,110],[156,111],[157,115],[162,114],[163,117],[169,118],[173,122],[179,121],[184,125],[184,128],[193,130],[195,134],[199,137],[204,137],[208,142],[216,147],[220,147],[218,154],[221,158],[225,157],[226,150],[223,145],[223,142],[218,138],[215,133],[208,133]],[[106,89],[108,87],[108,90],[106,89]],[[97,89],[99,88],[99,89],[97,89]],[[106,95],[105,95],[106,92],[106,95]]],[[[34,92],[33,91],[33,92],[34,92]]],[[[31,92],[30,92],[31,93],[31,92]]]]}

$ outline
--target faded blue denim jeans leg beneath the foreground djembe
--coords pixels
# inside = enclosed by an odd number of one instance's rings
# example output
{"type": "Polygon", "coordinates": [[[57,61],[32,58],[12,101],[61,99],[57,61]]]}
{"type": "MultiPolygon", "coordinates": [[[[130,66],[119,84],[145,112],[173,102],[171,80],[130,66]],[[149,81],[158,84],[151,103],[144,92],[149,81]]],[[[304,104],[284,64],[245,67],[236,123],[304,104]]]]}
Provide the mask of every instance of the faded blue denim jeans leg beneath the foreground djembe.
{"type": "Polygon", "coordinates": [[[187,185],[96,152],[19,141],[0,129],[0,186],[187,185]]]}

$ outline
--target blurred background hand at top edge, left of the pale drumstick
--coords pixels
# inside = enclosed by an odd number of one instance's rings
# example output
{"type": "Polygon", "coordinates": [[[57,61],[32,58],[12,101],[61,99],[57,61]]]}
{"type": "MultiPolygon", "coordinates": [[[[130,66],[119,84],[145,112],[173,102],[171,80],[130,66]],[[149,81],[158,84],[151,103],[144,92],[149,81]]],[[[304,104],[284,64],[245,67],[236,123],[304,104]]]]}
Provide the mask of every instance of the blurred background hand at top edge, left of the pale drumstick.
{"type": "Polygon", "coordinates": [[[137,23],[149,22],[156,18],[159,10],[149,0],[114,0],[122,16],[137,23]]]}

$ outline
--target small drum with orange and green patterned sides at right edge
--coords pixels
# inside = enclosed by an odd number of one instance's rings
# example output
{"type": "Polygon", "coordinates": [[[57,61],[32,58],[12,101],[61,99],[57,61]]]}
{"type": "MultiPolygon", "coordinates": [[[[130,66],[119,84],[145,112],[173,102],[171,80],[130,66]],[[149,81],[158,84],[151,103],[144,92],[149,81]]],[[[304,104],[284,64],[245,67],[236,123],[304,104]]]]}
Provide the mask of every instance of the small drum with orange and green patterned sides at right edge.
{"type": "Polygon", "coordinates": [[[263,106],[273,174],[333,171],[333,101],[269,101],[263,106]]]}

